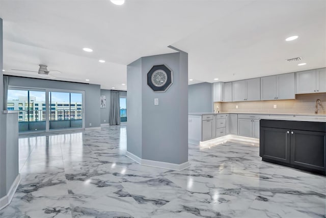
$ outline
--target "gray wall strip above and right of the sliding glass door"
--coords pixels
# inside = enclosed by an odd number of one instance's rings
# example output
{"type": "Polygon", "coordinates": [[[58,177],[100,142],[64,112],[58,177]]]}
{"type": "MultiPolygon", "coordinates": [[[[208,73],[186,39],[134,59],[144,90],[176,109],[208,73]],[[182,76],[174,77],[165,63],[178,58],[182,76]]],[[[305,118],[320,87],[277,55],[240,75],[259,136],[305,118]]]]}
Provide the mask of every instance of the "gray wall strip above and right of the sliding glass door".
{"type": "Polygon", "coordinates": [[[10,76],[9,86],[85,91],[85,127],[100,126],[100,85],[10,76]]]}

